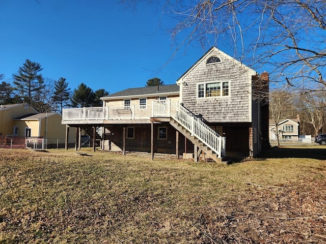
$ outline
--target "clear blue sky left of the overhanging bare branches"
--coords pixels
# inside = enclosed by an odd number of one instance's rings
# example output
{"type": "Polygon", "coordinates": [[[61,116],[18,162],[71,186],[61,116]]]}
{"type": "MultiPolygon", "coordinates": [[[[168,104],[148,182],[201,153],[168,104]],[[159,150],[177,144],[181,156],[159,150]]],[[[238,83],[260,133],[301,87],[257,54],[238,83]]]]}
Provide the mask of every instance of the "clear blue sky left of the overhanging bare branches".
{"type": "Polygon", "coordinates": [[[159,77],[175,81],[206,50],[174,53],[157,6],[136,10],[119,1],[0,0],[0,74],[11,82],[25,59],[41,64],[44,77],[85,83],[110,94],[145,86],[159,77]]]}

